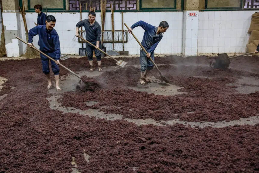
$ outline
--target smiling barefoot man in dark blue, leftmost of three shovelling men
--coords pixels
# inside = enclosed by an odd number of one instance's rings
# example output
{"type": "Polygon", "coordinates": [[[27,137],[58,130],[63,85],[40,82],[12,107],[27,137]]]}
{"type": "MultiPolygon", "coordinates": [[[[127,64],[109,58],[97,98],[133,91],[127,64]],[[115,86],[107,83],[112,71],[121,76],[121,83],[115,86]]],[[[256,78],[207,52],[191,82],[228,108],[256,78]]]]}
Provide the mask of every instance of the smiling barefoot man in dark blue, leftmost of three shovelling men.
{"type": "MultiPolygon", "coordinates": [[[[32,29],[29,30],[28,33],[28,46],[32,47],[33,37],[36,35],[39,35],[39,43],[40,47],[39,49],[50,56],[51,58],[55,59],[59,63],[60,58],[60,43],[59,43],[59,37],[58,33],[56,32],[53,27],[55,27],[56,19],[52,15],[48,15],[46,18],[45,25],[38,25],[32,29]]],[[[48,67],[48,58],[42,54],[40,54],[41,62],[42,62],[42,71],[46,75],[48,80],[48,86],[49,89],[51,87],[51,80],[50,80],[50,74],[49,74],[49,67],[48,67]]],[[[54,61],[50,60],[51,62],[51,68],[52,72],[55,75],[56,80],[56,88],[57,91],[60,91],[59,87],[59,66],[58,63],[56,64],[54,61]]]]}

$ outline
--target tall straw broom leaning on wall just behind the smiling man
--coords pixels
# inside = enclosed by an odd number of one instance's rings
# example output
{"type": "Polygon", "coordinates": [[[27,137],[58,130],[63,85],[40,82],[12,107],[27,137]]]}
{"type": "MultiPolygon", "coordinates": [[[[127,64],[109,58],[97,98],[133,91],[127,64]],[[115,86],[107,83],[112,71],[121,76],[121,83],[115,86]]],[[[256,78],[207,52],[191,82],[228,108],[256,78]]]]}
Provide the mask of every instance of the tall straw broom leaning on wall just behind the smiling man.
{"type": "MultiPolygon", "coordinates": [[[[23,2],[23,10],[21,10],[21,8],[20,8],[20,12],[23,17],[23,24],[24,24],[24,28],[25,28],[26,40],[28,42],[28,28],[27,28],[27,23],[26,23],[26,18],[25,18],[24,2],[23,2]]],[[[39,56],[39,53],[36,50],[34,50],[33,48],[27,46],[25,49],[24,56],[26,58],[32,59],[32,58],[35,58],[36,56],[39,56]]]]}

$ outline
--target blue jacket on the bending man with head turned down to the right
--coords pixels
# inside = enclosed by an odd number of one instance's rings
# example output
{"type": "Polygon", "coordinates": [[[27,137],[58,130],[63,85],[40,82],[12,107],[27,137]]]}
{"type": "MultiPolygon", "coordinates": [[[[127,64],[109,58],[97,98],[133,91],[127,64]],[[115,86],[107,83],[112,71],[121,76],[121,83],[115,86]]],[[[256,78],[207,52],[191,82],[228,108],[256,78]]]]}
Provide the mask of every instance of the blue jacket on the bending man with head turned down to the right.
{"type": "Polygon", "coordinates": [[[139,26],[145,30],[141,44],[145,47],[148,53],[152,54],[155,48],[157,47],[158,43],[162,39],[163,34],[157,34],[158,27],[154,27],[153,25],[148,24],[144,21],[138,21],[137,23],[133,24],[131,26],[131,29],[134,29],[135,27],[139,26]]]}

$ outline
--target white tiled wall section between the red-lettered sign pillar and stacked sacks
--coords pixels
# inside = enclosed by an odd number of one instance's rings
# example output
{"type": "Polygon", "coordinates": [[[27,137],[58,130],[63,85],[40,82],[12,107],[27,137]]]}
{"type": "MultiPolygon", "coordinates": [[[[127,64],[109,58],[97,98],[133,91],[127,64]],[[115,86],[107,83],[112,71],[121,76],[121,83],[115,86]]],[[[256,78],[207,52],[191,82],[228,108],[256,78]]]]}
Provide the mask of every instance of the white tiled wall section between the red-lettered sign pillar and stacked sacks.
{"type": "Polygon", "coordinates": [[[257,11],[199,12],[198,53],[245,53],[251,15],[257,11]]]}

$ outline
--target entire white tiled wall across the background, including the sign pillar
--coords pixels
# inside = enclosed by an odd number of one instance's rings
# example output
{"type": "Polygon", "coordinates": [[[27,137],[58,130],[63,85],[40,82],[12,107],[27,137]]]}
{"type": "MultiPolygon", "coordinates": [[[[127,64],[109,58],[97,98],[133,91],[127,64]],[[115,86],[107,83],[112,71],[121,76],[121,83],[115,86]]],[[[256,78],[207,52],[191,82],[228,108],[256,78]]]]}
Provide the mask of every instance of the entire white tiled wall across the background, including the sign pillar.
{"type": "MultiPolygon", "coordinates": [[[[163,20],[167,21],[169,28],[158,44],[156,54],[180,54],[186,56],[196,53],[245,53],[248,43],[248,28],[251,15],[256,11],[199,11],[198,18],[187,19],[185,12],[129,12],[124,13],[124,22],[130,27],[135,22],[142,20],[158,26],[163,20]],[[183,15],[185,14],[185,16],[183,15]],[[186,22],[184,22],[184,17],[186,22]],[[198,36],[197,36],[198,34],[198,36]]],[[[55,30],[58,32],[61,44],[61,53],[78,54],[81,44],[75,37],[76,23],[80,21],[80,13],[48,13],[57,19],[55,30]]],[[[83,13],[83,19],[88,13],[83,13]]],[[[28,30],[35,27],[36,13],[26,13],[28,30]]],[[[23,20],[20,13],[3,13],[6,30],[18,30],[18,36],[26,39],[23,20]],[[20,16],[19,16],[20,15],[20,16]]],[[[101,24],[100,13],[96,13],[96,21],[101,24]]],[[[114,13],[114,29],[121,30],[121,14],[114,13]]],[[[124,26],[126,30],[126,27],[124,26]]],[[[106,13],[105,30],[111,30],[111,13],[106,13]]],[[[142,41],[144,30],[137,27],[133,30],[139,41],[142,41]]],[[[34,46],[38,47],[39,37],[33,38],[34,46]]],[[[17,43],[12,39],[6,43],[8,56],[21,56],[26,45],[17,43]]],[[[111,43],[105,43],[107,50],[112,50],[111,43]]],[[[125,50],[131,55],[139,54],[140,46],[128,34],[128,43],[124,44],[125,50]]],[[[115,50],[122,50],[122,43],[115,43],[115,50]]]]}

